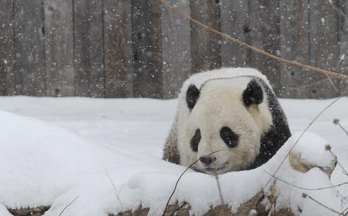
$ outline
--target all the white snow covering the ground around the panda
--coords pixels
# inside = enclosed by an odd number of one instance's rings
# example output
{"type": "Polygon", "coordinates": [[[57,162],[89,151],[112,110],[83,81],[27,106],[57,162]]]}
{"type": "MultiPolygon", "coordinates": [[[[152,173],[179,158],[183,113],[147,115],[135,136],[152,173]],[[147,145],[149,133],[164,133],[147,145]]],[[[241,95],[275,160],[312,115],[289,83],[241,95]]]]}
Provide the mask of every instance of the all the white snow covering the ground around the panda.
{"type": "MultiPolygon", "coordinates": [[[[294,134],[303,131],[331,101],[282,99],[280,103],[294,134]]],[[[52,206],[45,215],[59,215],[77,196],[63,215],[107,215],[134,210],[140,204],[150,207],[151,215],[161,215],[175,181],[185,169],[160,160],[176,103],[155,99],[0,97],[0,215],[10,215],[4,206],[52,206]]],[[[340,99],[310,127],[309,131],[326,141],[308,133],[299,144],[306,149],[310,142],[313,151],[318,152],[315,161],[320,161],[328,142],[338,161],[348,169],[348,137],[332,123],[334,118],[348,128],[347,98],[340,99]]],[[[269,178],[264,169],[274,172],[293,142],[260,169],[221,175],[224,201],[236,210],[240,203],[251,199],[269,178]]],[[[286,162],[278,175],[305,188],[348,181],[339,166],[331,181],[319,169],[306,174],[287,172],[291,176],[285,176],[282,170],[288,168],[286,162]]],[[[289,192],[280,194],[280,201],[294,209],[301,207],[302,215],[331,213],[309,199],[303,201],[304,191],[284,190],[289,192]]],[[[189,171],[171,203],[188,201],[192,213],[200,215],[220,204],[217,192],[213,176],[189,171]]],[[[306,192],[335,210],[347,208],[347,185],[306,192]]]]}

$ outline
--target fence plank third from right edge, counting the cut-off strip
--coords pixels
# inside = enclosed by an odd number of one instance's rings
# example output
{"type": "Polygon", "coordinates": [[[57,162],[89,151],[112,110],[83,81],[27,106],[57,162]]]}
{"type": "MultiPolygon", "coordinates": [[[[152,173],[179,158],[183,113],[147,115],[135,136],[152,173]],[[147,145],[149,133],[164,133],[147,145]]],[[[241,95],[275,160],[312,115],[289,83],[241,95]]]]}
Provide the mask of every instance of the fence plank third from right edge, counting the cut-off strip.
{"type": "MultiPolygon", "coordinates": [[[[309,63],[308,0],[280,0],[280,57],[309,63]],[[302,29],[301,29],[302,28],[302,29]]],[[[306,98],[313,72],[280,63],[280,97],[306,98]],[[301,87],[302,86],[302,87],[301,87]]]]}

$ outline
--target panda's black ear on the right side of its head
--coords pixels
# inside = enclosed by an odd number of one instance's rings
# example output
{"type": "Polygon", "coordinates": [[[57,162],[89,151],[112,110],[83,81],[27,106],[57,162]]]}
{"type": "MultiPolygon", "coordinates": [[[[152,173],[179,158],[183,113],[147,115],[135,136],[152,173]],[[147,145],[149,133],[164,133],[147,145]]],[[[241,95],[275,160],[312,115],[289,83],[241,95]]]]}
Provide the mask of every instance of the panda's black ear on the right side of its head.
{"type": "Polygon", "coordinates": [[[243,92],[244,106],[248,107],[252,104],[260,104],[263,101],[263,92],[260,84],[255,79],[252,79],[243,92]]]}

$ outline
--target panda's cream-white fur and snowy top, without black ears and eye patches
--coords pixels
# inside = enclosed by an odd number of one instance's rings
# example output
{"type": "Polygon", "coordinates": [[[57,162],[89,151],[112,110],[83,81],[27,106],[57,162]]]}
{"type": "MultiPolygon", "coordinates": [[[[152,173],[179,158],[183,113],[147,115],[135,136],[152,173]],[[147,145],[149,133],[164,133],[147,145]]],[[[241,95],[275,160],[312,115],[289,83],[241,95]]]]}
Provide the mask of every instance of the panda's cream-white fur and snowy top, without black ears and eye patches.
{"type": "Polygon", "coordinates": [[[200,161],[193,165],[208,174],[222,174],[240,170],[253,163],[260,151],[260,136],[272,124],[268,108],[267,94],[258,106],[246,109],[242,101],[242,93],[251,77],[262,78],[269,82],[255,69],[228,68],[216,69],[191,76],[182,87],[177,111],[177,149],[180,164],[189,166],[195,160],[214,151],[216,161],[206,167],[200,161]],[[186,92],[193,83],[201,88],[198,103],[190,112],[186,102],[186,92]],[[228,148],[221,140],[219,131],[228,126],[239,135],[239,143],[235,148],[228,148]],[[200,129],[202,138],[198,152],[191,149],[190,141],[196,129],[200,129]]]}

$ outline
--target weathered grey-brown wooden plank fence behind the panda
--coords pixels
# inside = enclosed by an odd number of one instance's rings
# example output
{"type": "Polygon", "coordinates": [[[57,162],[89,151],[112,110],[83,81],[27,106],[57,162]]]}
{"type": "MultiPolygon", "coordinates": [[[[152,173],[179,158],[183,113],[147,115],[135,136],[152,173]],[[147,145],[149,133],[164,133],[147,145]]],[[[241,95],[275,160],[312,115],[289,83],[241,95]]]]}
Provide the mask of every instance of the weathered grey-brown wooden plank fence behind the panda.
{"type": "MultiPolygon", "coordinates": [[[[346,0],[168,2],[269,53],[348,74],[346,0]]],[[[159,0],[0,1],[2,95],[168,99],[190,74],[219,67],[258,68],[280,97],[348,87],[223,40],[159,0]]]]}

